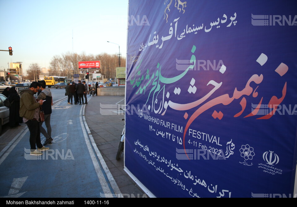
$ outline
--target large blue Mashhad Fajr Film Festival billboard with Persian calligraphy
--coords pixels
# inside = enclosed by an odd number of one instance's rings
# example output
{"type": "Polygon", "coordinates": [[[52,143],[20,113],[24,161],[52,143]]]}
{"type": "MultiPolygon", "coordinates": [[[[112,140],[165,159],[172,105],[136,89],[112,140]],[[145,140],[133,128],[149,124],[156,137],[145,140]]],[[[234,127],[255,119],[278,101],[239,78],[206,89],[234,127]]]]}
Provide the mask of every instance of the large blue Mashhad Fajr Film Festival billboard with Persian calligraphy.
{"type": "Polygon", "coordinates": [[[293,197],[293,1],[129,1],[125,169],[156,197],[293,197]]]}

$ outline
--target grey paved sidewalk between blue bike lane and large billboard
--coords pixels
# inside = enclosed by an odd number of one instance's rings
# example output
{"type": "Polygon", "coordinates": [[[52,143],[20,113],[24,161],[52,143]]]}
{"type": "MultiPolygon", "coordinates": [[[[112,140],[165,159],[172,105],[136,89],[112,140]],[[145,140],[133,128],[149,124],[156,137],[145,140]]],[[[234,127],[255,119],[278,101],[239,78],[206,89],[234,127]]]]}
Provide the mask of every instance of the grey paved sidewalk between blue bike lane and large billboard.
{"type": "MultiPolygon", "coordinates": [[[[87,98],[90,96],[88,95],[87,98]]],[[[124,108],[125,96],[93,96],[85,107],[85,119],[94,141],[100,150],[115,182],[124,197],[146,197],[140,187],[124,169],[124,156],[116,160],[118,142],[123,130],[124,118],[119,108],[124,108]],[[110,114],[110,115],[104,115],[110,114]]]]}

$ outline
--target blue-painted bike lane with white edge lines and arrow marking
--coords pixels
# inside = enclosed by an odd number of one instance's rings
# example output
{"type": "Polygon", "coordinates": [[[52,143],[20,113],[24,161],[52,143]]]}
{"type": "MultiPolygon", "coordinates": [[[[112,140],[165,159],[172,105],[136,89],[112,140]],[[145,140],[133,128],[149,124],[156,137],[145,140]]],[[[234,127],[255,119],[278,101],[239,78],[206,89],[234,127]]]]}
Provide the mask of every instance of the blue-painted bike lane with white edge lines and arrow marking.
{"type": "MultiPolygon", "coordinates": [[[[65,89],[50,90],[54,101],[53,144],[48,145],[50,150],[44,151],[42,156],[30,155],[30,134],[24,127],[12,139],[10,148],[0,154],[0,197],[111,195],[114,192],[85,128],[84,105],[67,104],[65,89]]],[[[41,134],[41,142],[44,141],[41,134]]]]}

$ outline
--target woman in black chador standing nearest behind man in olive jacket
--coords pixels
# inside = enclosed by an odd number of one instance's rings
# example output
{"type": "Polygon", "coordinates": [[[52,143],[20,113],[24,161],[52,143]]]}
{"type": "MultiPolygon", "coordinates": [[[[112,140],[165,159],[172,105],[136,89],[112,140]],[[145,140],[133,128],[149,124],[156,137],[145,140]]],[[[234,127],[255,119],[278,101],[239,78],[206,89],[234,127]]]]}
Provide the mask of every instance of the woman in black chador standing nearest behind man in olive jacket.
{"type": "Polygon", "coordinates": [[[23,123],[22,117],[19,117],[19,95],[15,87],[9,89],[9,102],[12,103],[9,107],[9,126],[16,127],[19,123],[23,123]]]}

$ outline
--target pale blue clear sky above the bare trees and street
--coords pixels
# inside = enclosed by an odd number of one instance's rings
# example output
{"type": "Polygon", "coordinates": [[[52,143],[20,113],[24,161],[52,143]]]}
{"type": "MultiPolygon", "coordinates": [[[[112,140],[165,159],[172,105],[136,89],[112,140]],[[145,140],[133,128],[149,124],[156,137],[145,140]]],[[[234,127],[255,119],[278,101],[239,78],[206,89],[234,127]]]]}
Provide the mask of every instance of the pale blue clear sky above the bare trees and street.
{"type": "Polygon", "coordinates": [[[0,70],[49,68],[54,55],[127,52],[128,0],[0,0],[0,70]],[[116,43],[108,43],[107,41],[116,43]],[[117,45],[118,44],[118,45],[117,45]]]}

